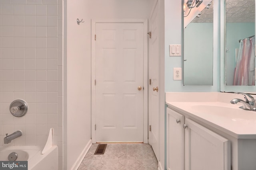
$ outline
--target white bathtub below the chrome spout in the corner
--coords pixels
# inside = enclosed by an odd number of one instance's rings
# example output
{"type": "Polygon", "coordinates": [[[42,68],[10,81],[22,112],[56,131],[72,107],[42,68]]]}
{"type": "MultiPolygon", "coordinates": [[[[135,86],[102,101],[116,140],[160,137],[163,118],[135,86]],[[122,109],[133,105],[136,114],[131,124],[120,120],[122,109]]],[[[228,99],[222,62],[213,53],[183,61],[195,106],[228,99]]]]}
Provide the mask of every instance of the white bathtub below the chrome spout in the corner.
{"type": "Polygon", "coordinates": [[[8,161],[8,155],[15,152],[16,161],[27,160],[28,170],[58,170],[58,147],[50,147],[45,154],[37,146],[0,147],[0,160],[8,161]]]}

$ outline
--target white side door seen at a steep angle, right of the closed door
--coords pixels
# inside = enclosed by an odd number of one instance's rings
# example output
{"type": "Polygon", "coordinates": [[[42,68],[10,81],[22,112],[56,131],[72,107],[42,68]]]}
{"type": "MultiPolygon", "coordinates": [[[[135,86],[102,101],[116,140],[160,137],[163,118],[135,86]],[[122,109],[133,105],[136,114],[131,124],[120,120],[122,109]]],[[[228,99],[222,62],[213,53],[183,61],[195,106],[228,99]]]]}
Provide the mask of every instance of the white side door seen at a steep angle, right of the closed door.
{"type": "Polygon", "coordinates": [[[159,36],[158,36],[158,4],[156,4],[152,16],[150,17],[149,40],[149,123],[151,131],[149,132],[150,145],[152,146],[156,157],[159,159],[159,36]]]}

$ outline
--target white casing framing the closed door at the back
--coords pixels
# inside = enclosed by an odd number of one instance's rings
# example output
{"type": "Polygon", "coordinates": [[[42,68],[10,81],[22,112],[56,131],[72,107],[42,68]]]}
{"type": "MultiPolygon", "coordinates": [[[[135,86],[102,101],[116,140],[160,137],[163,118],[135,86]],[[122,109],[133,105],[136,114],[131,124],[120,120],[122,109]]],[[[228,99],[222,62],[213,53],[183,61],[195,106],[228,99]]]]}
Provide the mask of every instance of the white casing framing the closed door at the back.
{"type": "MultiPolygon", "coordinates": [[[[148,143],[148,20],[147,19],[114,19],[92,20],[92,60],[91,60],[91,96],[92,96],[92,143],[96,143],[96,23],[143,23],[143,142],[148,143]]],[[[97,37],[96,37],[97,39],[97,37]]]]}

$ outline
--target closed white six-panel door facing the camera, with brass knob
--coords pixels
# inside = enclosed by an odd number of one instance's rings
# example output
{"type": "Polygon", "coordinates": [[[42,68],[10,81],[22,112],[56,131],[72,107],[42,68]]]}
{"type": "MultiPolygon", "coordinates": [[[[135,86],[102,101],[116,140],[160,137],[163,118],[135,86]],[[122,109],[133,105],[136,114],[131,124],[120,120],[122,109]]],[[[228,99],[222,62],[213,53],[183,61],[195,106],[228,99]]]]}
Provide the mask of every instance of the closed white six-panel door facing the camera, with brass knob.
{"type": "Polygon", "coordinates": [[[143,23],[96,23],[95,60],[96,142],[143,142],[143,23]]]}

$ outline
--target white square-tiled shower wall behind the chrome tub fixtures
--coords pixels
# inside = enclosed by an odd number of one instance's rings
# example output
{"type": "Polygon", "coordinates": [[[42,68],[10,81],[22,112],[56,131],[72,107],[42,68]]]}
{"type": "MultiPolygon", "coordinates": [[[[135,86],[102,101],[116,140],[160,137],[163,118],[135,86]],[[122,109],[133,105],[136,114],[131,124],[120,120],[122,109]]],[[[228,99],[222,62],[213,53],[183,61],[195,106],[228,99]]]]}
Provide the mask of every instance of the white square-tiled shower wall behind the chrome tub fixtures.
{"type": "MultiPolygon", "coordinates": [[[[43,147],[49,129],[62,169],[62,0],[0,0],[0,139],[22,130],[8,145],[43,147]],[[10,114],[15,99],[28,103],[24,117],[10,114]]],[[[0,146],[3,140],[0,140],[0,146]]]]}

